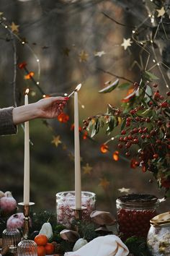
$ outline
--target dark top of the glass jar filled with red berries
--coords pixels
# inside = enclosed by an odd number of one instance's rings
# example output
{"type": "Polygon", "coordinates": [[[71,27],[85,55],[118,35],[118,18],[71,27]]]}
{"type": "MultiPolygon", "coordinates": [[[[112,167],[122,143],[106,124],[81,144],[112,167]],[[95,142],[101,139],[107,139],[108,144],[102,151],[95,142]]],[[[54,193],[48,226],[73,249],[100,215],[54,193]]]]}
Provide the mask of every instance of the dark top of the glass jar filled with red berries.
{"type": "Polygon", "coordinates": [[[148,194],[128,194],[118,197],[117,208],[149,209],[158,207],[158,197],[148,194]]]}

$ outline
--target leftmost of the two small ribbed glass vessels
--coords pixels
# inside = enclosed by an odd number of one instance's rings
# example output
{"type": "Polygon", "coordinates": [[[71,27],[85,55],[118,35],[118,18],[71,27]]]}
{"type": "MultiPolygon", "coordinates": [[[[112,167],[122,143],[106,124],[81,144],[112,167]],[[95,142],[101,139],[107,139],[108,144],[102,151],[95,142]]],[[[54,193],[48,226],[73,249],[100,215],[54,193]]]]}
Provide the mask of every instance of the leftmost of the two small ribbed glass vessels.
{"type": "Polygon", "coordinates": [[[17,252],[17,245],[21,241],[18,229],[4,229],[2,232],[2,247],[9,247],[9,252],[17,252]]]}

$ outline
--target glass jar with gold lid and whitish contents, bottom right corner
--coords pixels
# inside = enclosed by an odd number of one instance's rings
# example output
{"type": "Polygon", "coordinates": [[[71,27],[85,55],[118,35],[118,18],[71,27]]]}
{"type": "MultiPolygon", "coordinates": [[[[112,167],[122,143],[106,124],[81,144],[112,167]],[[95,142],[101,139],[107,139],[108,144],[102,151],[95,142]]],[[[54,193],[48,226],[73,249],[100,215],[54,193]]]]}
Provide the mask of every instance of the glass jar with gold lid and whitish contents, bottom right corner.
{"type": "Polygon", "coordinates": [[[170,255],[170,212],[161,213],[150,222],[147,244],[151,255],[170,255]]]}

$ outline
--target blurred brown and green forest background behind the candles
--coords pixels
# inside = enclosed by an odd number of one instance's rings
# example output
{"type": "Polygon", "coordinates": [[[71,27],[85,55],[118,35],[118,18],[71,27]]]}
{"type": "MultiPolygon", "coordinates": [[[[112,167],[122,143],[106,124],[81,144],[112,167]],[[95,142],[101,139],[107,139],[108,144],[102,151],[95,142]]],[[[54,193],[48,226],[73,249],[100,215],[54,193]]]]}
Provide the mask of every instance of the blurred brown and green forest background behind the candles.
{"type": "MultiPolygon", "coordinates": [[[[4,24],[19,25],[14,33],[0,25],[0,107],[22,105],[27,87],[31,103],[42,98],[43,93],[71,93],[80,82],[81,127],[83,119],[107,111],[108,103],[120,106],[128,90],[106,94],[98,91],[116,77],[120,77],[120,82],[126,79],[139,82],[140,69],[138,64],[133,64],[141,60],[141,49],[135,43],[127,49],[121,44],[123,38],[131,37],[133,27],[144,20],[146,27],[151,28],[148,10],[160,9],[151,4],[151,1],[135,0],[0,0],[4,24]],[[17,66],[23,61],[35,73],[35,82],[24,79],[24,69],[17,66]]],[[[146,61],[147,56],[143,54],[142,58],[146,61]]],[[[160,77],[159,70],[153,70],[160,77]]],[[[166,70],[164,76],[169,79],[166,70]]],[[[160,79],[159,84],[164,94],[164,80],[160,79]]],[[[35,202],[34,210],[55,211],[55,194],[74,189],[73,98],[64,112],[69,116],[66,123],[58,119],[30,121],[30,200],[35,202]],[[61,143],[52,143],[54,137],[61,143]]],[[[149,183],[151,174],[130,168],[130,161],[124,156],[120,155],[119,161],[113,160],[112,152],[117,150],[115,141],[109,142],[112,150],[101,153],[100,145],[106,140],[104,129],[94,140],[86,138],[84,131],[80,134],[82,189],[97,194],[97,209],[115,214],[115,200],[124,195],[118,190],[122,187],[130,189],[129,192],[162,197],[156,182],[149,183]]],[[[22,202],[22,126],[18,127],[17,135],[0,137],[0,145],[0,189],[12,191],[17,202],[22,202]]],[[[167,202],[163,202],[163,210],[169,210],[167,202]]]]}

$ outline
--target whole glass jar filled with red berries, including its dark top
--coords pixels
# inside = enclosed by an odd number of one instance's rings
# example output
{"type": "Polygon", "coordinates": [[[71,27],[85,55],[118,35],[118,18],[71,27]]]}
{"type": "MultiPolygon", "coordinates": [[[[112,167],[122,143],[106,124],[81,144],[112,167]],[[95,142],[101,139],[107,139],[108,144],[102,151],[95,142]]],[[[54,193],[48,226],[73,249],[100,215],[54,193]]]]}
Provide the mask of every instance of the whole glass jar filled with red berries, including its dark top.
{"type": "Polygon", "coordinates": [[[117,230],[122,240],[130,236],[147,237],[150,220],[158,214],[154,195],[129,194],[118,197],[117,230]]]}

